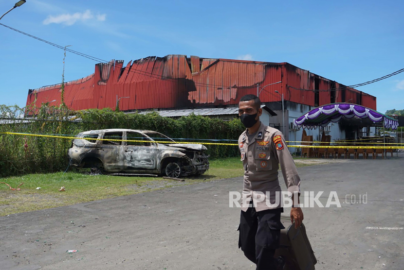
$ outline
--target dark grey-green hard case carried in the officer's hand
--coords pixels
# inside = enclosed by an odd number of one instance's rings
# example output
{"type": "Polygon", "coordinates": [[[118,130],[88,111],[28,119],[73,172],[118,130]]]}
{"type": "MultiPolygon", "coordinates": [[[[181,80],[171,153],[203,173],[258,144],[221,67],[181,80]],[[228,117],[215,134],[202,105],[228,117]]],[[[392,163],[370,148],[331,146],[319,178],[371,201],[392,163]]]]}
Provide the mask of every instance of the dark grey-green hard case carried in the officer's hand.
{"type": "Polygon", "coordinates": [[[283,270],[314,270],[317,259],[304,224],[295,229],[290,217],[281,216],[280,221],[285,229],[280,231],[280,246],[276,249],[275,258],[282,256],[285,259],[283,270]]]}

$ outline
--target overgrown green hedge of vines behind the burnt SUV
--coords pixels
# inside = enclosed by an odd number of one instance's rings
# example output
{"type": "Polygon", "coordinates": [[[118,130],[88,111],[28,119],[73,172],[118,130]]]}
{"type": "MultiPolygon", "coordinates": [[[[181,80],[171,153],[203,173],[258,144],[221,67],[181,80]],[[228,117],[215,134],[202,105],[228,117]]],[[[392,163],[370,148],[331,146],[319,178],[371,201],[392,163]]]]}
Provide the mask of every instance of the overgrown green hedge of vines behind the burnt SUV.
{"type": "MultiPolygon", "coordinates": [[[[239,119],[222,121],[195,115],[173,119],[161,117],[156,112],[146,115],[125,114],[111,109],[71,111],[63,106],[49,106],[49,103],[44,103],[40,108],[0,105],[0,121],[0,132],[27,134],[0,134],[0,176],[56,172],[67,168],[67,151],[71,146],[71,139],[28,134],[76,135],[87,130],[126,128],[153,130],[172,138],[195,139],[203,144],[209,141],[197,139],[234,140],[244,130],[239,119]],[[20,117],[21,115],[25,117],[20,117]],[[79,121],[73,121],[74,119],[79,121]]],[[[206,147],[212,158],[239,155],[236,146],[206,147]]]]}

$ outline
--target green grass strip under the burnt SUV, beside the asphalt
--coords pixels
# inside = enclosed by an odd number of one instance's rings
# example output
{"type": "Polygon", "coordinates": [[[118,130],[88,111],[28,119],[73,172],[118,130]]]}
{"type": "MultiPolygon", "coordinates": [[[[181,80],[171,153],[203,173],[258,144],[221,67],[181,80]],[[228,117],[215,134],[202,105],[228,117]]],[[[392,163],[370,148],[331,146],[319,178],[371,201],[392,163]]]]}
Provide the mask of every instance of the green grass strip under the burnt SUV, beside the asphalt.
{"type": "Polygon", "coordinates": [[[21,190],[10,190],[8,186],[0,184],[0,216],[130,195],[170,186],[239,177],[243,175],[243,172],[239,157],[233,157],[211,160],[210,169],[205,174],[185,178],[185,182],[166,180],[162,177],[86,175],[75,172],[0,178],[0,182],[5,182],[13,188],[24,183],[20,186],[21,190]],[[60,192],[61,186],[64,186],[66,191],[60,192]],[[41,189],[37,190],[37,187],[41,189]]]}

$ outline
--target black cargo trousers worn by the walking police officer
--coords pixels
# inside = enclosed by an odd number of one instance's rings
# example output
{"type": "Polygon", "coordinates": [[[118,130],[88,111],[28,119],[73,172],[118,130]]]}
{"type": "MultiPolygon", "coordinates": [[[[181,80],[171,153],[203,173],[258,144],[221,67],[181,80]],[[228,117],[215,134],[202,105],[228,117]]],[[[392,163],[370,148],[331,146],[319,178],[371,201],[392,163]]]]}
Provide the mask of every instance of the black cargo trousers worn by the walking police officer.
{"type": "Polygon", "coordinates": [[[282,212],[283,208],[257,212],[254,207],[241,211],[239,248],[257,265],[257,270],[277,269],[274,254],[279,247],[280,230],[285,228],[280,222],[282,212]]]}

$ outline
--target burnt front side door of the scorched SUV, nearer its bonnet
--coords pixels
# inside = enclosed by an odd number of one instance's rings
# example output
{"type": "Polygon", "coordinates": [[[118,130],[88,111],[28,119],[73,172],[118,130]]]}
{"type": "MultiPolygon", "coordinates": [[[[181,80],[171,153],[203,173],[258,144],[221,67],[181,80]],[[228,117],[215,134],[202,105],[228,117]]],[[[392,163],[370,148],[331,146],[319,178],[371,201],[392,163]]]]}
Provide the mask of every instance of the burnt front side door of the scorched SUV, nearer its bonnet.
{"type": "Polygon", "coordinates": [[[157,145],[140,132],[129,131],[124,147],[125,168],[133,170],[156,169],[157,145]],[[137,141],[137,142],[134,142],[137,141]]]}

